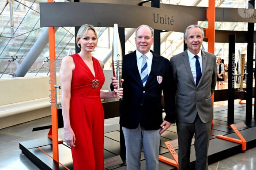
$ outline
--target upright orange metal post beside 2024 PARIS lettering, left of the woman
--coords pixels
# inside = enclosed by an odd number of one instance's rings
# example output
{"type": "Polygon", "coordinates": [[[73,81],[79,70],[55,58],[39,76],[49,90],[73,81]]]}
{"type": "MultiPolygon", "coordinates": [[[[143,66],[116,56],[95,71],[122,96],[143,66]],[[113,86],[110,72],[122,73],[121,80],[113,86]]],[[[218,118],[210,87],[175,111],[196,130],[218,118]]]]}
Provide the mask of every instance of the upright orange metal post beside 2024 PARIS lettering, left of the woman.
{"type": "MultiPolygon", "coordinates": [[[[48,0],[48,3],[53,3],[53,0],[48,0]]],[[[55,67],[55,29],[49,27],[49,55],[50,55],[50,88],[51,88],[51,113],[52,113],[52,141],[53,141],[53,159],[59,162],[59,140],[58,140],[58,114],[57,114],[57,99],[56,99],[56,67],[55,67]]]]}

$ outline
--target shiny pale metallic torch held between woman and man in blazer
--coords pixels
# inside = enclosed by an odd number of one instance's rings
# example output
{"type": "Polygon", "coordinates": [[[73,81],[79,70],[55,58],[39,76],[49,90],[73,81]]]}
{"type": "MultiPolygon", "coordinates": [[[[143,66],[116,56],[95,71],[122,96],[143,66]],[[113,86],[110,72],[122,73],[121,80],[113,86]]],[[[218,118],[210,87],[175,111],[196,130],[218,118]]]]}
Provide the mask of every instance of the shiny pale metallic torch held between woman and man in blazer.
{"type": "MultiPolygon", "coordinates": [[[[117,89],[121,87],[122,65],[123,65],[123,55],[122,55],[120,38],[118,34],[118,25],[114,24],[114,34],[113,34],[113,44],[112,44],[112,69],[113,69],[113,76],[116,77],[117,80],[119,81],[119,86],[117,87],[117,89]]],[[[117,99],[119,99],[118,95],[117,95],[117,99]]]]}

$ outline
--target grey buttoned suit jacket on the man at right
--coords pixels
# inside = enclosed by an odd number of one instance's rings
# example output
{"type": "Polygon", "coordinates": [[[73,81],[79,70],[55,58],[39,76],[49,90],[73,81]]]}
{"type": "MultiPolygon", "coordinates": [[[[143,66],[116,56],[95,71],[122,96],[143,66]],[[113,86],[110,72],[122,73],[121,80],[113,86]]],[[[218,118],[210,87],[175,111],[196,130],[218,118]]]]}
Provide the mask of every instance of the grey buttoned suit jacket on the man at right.
{"type": "Polygon", "coordinates": [[[203,71],[198,86],[193,79],[188,60],[188,52],[184,51],[170,59],[172,70],[172,93],[175,98],[176,120],[192,123],[196,113],[203,123],[213,119],[213,103],[211,95],[217,80],[216,56],[202,52],[203,71]]]}

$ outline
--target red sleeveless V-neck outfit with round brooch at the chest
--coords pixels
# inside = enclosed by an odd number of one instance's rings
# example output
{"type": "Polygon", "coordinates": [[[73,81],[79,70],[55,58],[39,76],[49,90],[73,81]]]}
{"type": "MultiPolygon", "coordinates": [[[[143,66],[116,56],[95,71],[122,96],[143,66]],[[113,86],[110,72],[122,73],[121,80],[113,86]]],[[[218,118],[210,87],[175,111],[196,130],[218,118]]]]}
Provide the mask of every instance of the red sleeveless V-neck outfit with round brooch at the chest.
{"type": "Polygon", "coordinates": [[[76,139],[71,148],[74,170],[103,170],[104,110],[100,89],[105,77],[96,58],[92,58],[94,77],[79,54],[71,57],[75,62],[70,100],[70,123],[76,139]]]}

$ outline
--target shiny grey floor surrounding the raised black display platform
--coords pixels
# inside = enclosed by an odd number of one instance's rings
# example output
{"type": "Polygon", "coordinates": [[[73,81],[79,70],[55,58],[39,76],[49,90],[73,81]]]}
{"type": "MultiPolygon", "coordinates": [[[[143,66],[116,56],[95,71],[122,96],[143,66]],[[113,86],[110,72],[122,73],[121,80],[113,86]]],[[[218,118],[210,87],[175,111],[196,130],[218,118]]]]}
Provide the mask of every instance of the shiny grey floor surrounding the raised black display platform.
{"type": "MultiPolygon", "coordinates": [[[[238,101],[235,101],[237,103],[238,101]]],[[[226,101],[215,102],[215,107],[227,105],[226,101]]],[[[106,119],[105,126],[117,124],[118,118],[106,119]]],[[[51,117],[45,117],[0,130],[0,170],[39,170],[22,154],[19,142],[45,137],[48,130],[32,132],[34,127],[50,125],[51,117]]],[[[63,129],[59,129],[59,137],[64,139],[63,129]]],[[[209,170],[255,170],[256,148],[246,150],[235,156],[209,165],[209,170]]]]}

